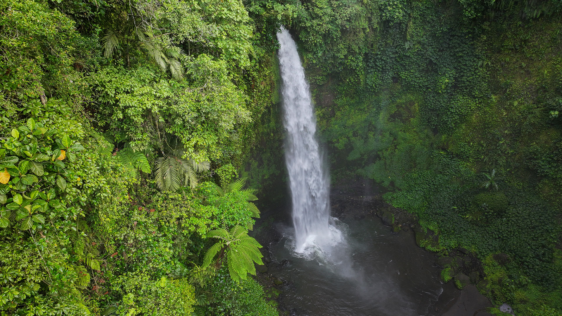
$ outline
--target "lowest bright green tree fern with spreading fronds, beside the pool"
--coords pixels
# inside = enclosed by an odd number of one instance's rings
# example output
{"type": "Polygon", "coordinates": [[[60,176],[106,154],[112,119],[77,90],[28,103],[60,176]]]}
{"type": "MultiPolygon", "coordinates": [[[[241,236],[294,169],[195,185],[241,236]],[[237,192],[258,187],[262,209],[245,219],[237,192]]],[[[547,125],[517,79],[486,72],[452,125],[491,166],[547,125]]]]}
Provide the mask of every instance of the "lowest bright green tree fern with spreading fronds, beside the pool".
{"type": "Polygon", "coordinates": [[[256,267],[253,263],[263,264],[260,252],[262,247],[255,238],[248,236],[248,231],[242,226],[234,226],[230,232],[226,229],[215,229],[207,234],[207,238],[217,238],[219,241],[211,246],[205,258],[203,259],[203,267],[209,267],[214,261],[217,254],[219,257],[216,263],[220,264],[226,254],[226,264],[230,277],[234,281],[246,279],[248,273],[256,275],[256,267]]]}

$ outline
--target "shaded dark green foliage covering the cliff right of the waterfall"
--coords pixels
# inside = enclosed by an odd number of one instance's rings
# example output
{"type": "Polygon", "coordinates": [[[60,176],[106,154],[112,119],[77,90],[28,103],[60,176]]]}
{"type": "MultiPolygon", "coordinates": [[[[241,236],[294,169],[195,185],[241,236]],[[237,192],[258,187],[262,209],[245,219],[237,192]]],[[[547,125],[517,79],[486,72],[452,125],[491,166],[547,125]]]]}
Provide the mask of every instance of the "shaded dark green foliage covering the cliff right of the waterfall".
{"type": "Polygon", "coordinates": [[[333,179],[386,186],[388,202],[437,233],[428,249],[463,247],[490,269],[481,290],[496,303],[562,313],[561,4],[306,1],[302,10],[294,29],[333,179]],[[493,255],[509,258],[501,277],[493,255]]]}

